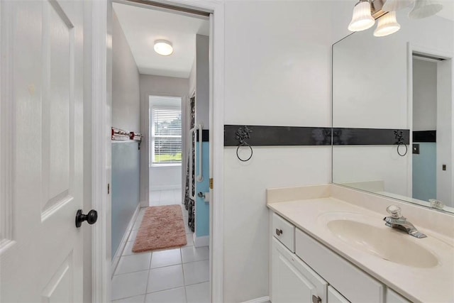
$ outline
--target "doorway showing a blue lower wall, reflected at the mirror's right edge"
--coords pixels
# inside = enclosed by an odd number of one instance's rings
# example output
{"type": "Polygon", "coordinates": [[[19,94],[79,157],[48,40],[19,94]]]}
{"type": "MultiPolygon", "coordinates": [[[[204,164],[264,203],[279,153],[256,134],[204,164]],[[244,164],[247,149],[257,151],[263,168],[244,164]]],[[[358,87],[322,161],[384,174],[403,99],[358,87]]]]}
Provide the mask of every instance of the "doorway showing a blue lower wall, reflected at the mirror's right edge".
{"type": "Polygon", "coordinates": [[[412,53],[412,197],[454,206],[452,59],[412,53]]]}

